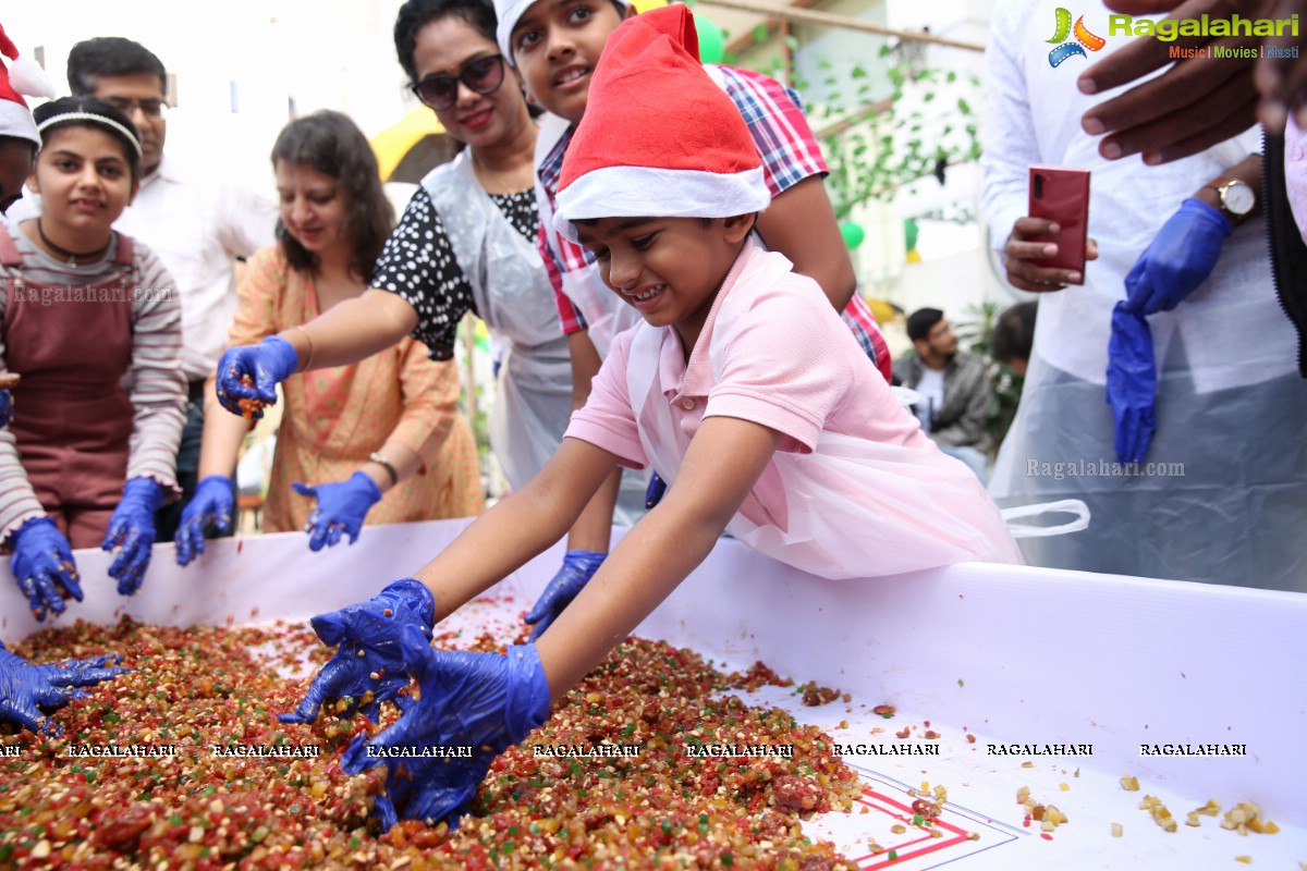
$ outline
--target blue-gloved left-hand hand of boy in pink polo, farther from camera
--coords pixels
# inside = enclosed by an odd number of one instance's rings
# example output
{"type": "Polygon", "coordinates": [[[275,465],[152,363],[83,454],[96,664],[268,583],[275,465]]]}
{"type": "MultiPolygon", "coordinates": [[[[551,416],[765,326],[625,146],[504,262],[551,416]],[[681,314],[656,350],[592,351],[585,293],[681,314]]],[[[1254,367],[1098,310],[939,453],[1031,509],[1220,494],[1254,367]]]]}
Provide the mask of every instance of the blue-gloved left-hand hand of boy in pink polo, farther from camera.
{"type": "Polygon", "coordinates": [[[319,614],[312,626],[323,644],[340,649],[314,678],[299,708],[277,720],[311,723],[325,701],[348,699],[340,717],[353,717],[356,710],[362,710],[376,722],[383,701],[393,701],[400,710],[413,703],[408,695],[412,673],[405,657],[409,653],[400,648],[399,637],[400,629],[408,626],[430,644],[435,598],[426,584],[405,577],[367,602],[319,614]]]}

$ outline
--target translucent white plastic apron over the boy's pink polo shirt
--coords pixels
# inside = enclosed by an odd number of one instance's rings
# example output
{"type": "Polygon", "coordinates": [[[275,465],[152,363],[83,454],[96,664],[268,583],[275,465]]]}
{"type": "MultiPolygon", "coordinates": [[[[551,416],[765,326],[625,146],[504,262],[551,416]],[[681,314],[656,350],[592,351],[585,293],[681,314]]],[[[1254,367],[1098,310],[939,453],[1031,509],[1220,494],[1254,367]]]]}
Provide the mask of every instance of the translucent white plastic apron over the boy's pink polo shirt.
{"type": "MultiPolygon", "coordinates": [[[[787,274],[787,261],[755,259],[723,300],[708,359],[721,373],[750,287],[787,274]],[[757,265],[755,265],[757,264],[757,265]]],[[[657,377],[664,330],[640,323],[631,342],[626,387],[646,458],[673,486],[689,448],[657,377]]],[[[967,560],[1021,563],[999,509],[963,464],[933,445],[881,444],[822,432],[809,454],[776,452],[763,478],[784,486],[784,529],[755,522],[769,512],[750,492],[727,531],[767,556],[830,578],[877,577],[967,560]]]]}

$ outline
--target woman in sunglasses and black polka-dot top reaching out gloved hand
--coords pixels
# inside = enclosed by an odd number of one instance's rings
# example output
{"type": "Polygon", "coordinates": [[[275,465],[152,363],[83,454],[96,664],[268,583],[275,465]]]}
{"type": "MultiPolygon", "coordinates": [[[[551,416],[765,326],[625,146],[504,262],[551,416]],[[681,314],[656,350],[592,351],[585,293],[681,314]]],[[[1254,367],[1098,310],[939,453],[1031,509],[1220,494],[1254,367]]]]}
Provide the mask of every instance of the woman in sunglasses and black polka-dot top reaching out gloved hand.
{"type": "Polygon", "coordinates": [[[567,340],[536,251],[536,124],[507,74],[488,1],[408,0],[395,47],[413,93],[467,148],[422,180],[362,296],[302,329],[229,350],[218,393],[235,413],[242,400],[271,404],[291,373],[352,363],[404,336],[447,360],[472,311],[508,347],[490,441],[520,488],[561,443],[571,410],[567,340]],[[242,375],[254,385],[240,384],[242,375]]]}

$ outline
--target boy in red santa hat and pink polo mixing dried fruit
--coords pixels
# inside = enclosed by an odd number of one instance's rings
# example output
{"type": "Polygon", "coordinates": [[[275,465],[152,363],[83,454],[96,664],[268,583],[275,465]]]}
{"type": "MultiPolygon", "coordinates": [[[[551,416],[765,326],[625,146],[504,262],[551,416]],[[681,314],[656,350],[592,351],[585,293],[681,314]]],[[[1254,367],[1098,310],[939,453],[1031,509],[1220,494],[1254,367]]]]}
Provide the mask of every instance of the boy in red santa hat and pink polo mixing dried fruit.
{"type": "MultiPolygon", "coordinates": [[[[609,293],[643,323],[614,340],[544,470],[396,584],[421,582],[431,618],[443,618],[555,542],[614,466],[656,464],[670,488],[535,644],[435,652],[427,624],[358,623],[366,642],[391,639],[422,686],[395,726],[358,736],[341,763],[391,767],[379,802],[389,821],[456,820],[494,755],[542,723],[550,700],[723,531],[830,578],[1021,562],[975,475],[921,434],[835,311],[814,304],[817,283],[752,238],[770,200],[761,159],[694,54],[684,5],[627,20],[563,162],[554,226],[593,252],[609,293]],[[412,753],[389,752],[427,746],[474,750],[416,768],[412,753]]],[[[335,639],[346,661],[353,632],[335,639]]]]}

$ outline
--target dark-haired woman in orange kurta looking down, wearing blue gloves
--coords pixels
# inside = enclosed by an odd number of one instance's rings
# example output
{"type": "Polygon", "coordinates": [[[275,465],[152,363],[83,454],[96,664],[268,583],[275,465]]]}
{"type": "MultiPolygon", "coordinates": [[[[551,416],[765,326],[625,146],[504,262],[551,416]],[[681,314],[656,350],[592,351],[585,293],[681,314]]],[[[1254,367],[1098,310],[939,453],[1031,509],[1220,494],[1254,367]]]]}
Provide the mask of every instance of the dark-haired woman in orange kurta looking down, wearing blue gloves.
{"type": "MultiPolygon", "coordinates": [[[[345,115],[320,111],[291,121],[272,162],[278,244],[246,269],[231,345],[259,342],[361,295],[393,225],[371,148],[345,115]]],[[[459,389],[455,364],[429,359],[409,338],[359,363],[289,379],[264,528],[305,529],[319,550],[344,535],[353,543],[365,518],[480,513],[480,465],[459,389]]],[[[217,405],[216,394],[207,401],[217,405]]],[[[204,552],[207,525],[230,524],[231,475],[251,426],[230,414],[205,418],[201,481],[176,534],[182,565],[204,552]]]]}

